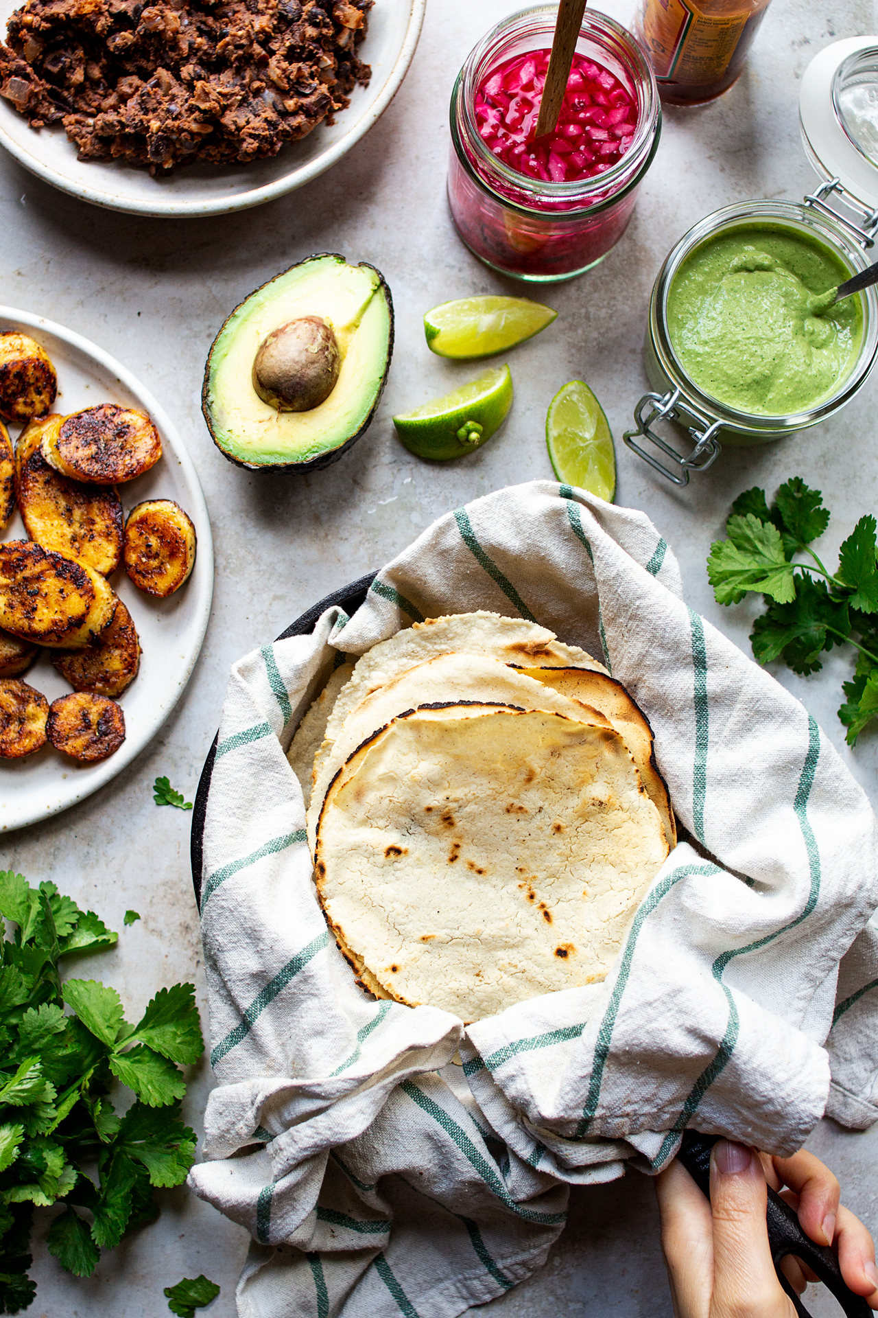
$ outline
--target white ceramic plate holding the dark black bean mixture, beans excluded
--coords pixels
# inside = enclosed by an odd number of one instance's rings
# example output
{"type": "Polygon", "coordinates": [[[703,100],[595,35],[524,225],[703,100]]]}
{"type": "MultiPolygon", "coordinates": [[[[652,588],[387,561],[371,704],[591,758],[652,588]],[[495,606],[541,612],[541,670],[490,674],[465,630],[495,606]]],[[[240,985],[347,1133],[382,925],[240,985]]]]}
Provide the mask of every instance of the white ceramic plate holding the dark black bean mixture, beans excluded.
{"type": "MultiPolygon", "coordinates": [[[[0,0],[0,36],[22,0],[0,0]]],[[[63,192],[111,211],[136,215],[222,215],[261,206],[301,187],[341,159],[384,113],[412,62],[426,0],[376,0],[369,14],[369,34],[359,54],[371,65],[369,87],[355,87],[350,107],[332,127],[319,124],[300,142],[291,142],[271,159],[246,166],[194,165],[170,178],[150,178],[146,170],[116,161],[80,161],[61,125],[36,132],[0,98],[0,145],[33,174],[63,192]]]]}

